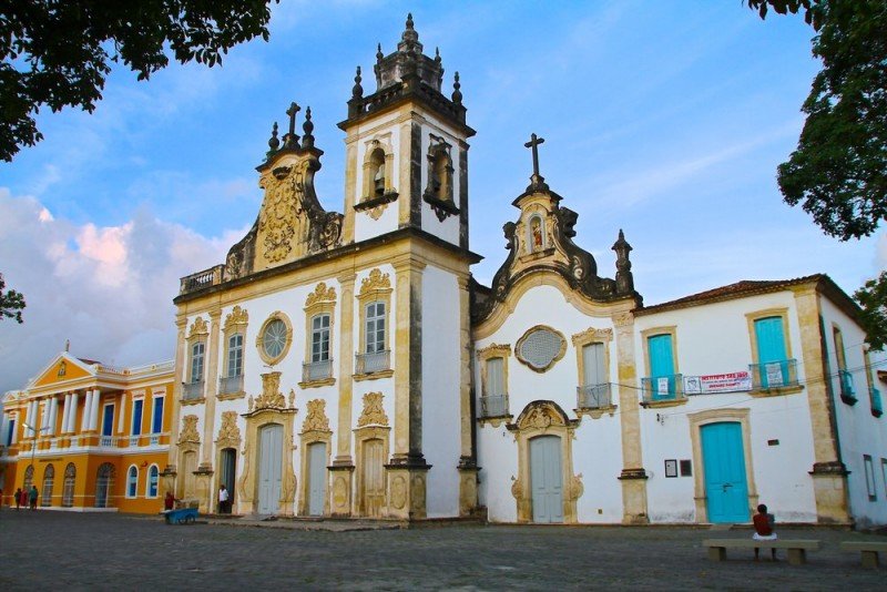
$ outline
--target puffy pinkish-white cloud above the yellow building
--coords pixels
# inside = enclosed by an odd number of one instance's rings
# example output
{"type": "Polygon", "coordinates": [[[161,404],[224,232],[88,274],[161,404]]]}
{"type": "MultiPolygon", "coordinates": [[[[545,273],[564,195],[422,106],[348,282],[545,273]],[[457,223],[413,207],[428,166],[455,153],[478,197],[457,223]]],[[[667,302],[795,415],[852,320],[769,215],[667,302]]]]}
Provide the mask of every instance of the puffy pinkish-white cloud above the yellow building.
{"type": "Polygon", "coordinates": [[[23,387],[65,339],[110,365],[172,358],[179,278],[224,261],[244,232],[207,238],[145,208],[115,226],[74,224],[0,187],[0,273],[28,304],[24,324],[0,326],[0,392],[23,387]]]}

